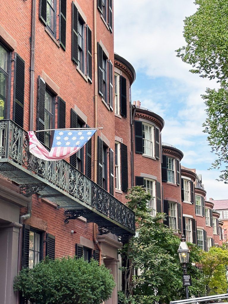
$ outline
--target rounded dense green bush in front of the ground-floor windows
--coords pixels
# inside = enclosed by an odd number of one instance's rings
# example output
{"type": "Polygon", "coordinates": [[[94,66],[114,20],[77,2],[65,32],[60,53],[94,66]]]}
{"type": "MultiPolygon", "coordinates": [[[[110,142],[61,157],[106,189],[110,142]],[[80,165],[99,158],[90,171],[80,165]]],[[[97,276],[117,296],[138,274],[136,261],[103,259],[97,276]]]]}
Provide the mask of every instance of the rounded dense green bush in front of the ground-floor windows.
{"type": "Polygon", "coordinates": [[[115,281],[105,265],[93,259],[46,259],[22,269],[14,289],[32,304],[100,304],[110,298],[115,281]]]}

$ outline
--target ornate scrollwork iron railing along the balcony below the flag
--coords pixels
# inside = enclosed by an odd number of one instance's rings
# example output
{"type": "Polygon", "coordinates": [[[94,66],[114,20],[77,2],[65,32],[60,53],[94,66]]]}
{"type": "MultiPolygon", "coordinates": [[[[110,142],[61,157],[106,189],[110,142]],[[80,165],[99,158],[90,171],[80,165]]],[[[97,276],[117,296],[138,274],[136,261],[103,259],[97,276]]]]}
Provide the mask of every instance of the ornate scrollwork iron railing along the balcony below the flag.
{"type": "MultiPolygon", "coordinates": [[[[96,210],[96,214],[103,216],[104,219],[112,220],[112,223],[118,223],[126,230],[135,231],[134,212],[126,205],[110,195],[103,188],[98,186],[83,173],[74,168],[67,161],[44,161],[29,153],[28,133],[11,120],[0,121],[0,162],[6,162],[14,165],[16,168],[0,168],[0,173],[9,171],[12,180],[17,180],[17,170],[29,171],[32,176],[39,177],[38,190],[40,195],[44,197],[64,196],[66,193],[67,200],[56,199],[56,203],[60,208],[74,210],[75,206],[80,209],[82,205],[84,209],[88,207],[91,211],[96,210]],[[19,165],[19,166],[18,166],[19,165]],[[54,186],[54,191],[49,187],[49,192],[42,192],[43,188],[48,185],[54,186]],[[61,194],[57,194],[56,189],[61,190],[61,194]],[[70,198],[70,203],[69,203],[70,198]],[[73,203],[72,200],[73,199],[73,203]],[[105,216],[105,217],[104,217],[105,216]]],[[[18,184],[22,184],[22,177],[18,178],[18,184]]],[[[28,178],[27,178],[28,180],[28,178]]],[[[23,185],[20,185],[23,188],[23,185]]],[[[27,187],[28,188],[28,187],[27,187]]],[[[26,188],[25,195],[31,195],[35,192],[29,192],[26,188]]],[[[38,193],[38,190],[36,193],[38,193]]],[[[53,201],[53,200],[52,200],[53,201]]],[[[83,209],[82,208],[82,209],[83,209]]],[[[92,220],[91,220],[92,221],[92,220]]],[[[102,220],[100,220],[102,221],[102,220]]]]}

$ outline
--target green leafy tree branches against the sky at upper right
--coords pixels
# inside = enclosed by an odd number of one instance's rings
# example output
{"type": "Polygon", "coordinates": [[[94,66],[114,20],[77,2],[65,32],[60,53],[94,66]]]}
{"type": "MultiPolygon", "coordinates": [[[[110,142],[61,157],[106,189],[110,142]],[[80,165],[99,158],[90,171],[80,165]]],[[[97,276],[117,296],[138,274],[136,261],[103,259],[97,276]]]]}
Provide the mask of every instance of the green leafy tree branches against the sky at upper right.
{"type": "Polygon", "coordinates": [[[207,116],[203,126],[216,161],[212,168],[221,169],[219,180],[228,182],[228,2],[196,0],[197,11],[184,20],[186,45],[177,50],[183,62],[192,65],[190,72],[216,79],[218,90],[207,89],[203,99],[207,116]]]}

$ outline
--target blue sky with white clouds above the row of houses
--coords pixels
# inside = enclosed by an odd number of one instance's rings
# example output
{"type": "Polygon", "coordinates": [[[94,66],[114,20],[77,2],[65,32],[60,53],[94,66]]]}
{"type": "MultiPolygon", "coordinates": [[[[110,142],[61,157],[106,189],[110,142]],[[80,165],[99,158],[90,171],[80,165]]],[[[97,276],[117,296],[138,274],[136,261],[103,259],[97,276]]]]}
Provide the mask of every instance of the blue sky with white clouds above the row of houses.
{"type": "Polygon", "coordinates": [[[228,199],[228,185],[216,181],[219,171],[208,170],[215,155],[202,132],[201,94],[216,83],[190,73],[191,66],[175,53],[185,45],[183,20],[196,9],[193,0],[115,0],[115,52],[136,70],[132,101],[164,119],[162,142],[180,149],[181,164],[202,174],[207,199],[228,199]]]}

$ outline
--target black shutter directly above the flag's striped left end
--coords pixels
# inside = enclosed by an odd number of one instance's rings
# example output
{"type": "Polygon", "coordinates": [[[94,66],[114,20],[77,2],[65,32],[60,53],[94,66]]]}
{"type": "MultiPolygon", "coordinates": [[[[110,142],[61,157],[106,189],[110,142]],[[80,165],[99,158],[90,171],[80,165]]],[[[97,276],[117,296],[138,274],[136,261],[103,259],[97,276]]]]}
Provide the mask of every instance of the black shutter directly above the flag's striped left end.
{"type": "MultiPolygon", "coordinates": [[[[37,102],[37,129],[44,130],[44,103],[45,103],[45,82],[38,77],[38,102],[37,102]]],[[[44,143],[44,132],[37,133],[38,139],[44,143]]]]}

